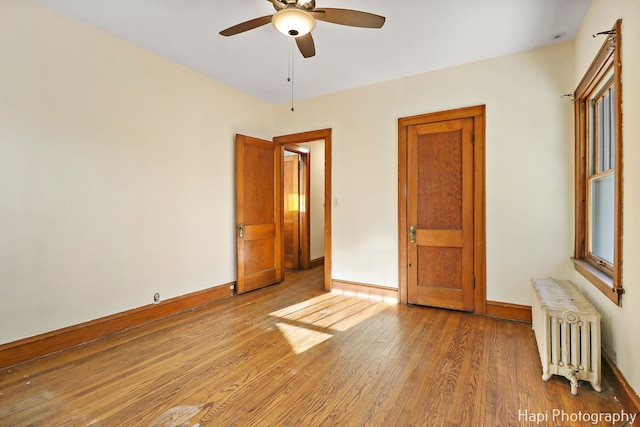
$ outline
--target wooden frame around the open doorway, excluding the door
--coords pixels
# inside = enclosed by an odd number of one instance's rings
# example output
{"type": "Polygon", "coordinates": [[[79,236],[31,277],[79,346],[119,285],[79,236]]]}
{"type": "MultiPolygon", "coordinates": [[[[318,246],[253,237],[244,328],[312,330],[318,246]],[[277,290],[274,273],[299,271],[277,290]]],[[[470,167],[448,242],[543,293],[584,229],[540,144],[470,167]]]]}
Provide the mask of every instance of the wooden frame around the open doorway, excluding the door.
{"type": "MultiPolygon", "coordinates": [[[[302,144],[312,141],[324,141],[324,289],[331,290],[331,128],[312,130],[288,135],[280,135],[273,138],[276,151],[280,153],[280,158],[284,154],[287,144],[302,144]]],[[[280,183],[282,182],[282,162],[280,162],[279,173],[280,183]]],[[[282,197],[282,195],[280,196],[282,197]]],[[[281,202],[282,203],[282,202],[281,202]]],[[[284,216],[281,213],[281,222],[284,216]]],[[[284,242],[282,244],[284,256],[284,242]]]]}

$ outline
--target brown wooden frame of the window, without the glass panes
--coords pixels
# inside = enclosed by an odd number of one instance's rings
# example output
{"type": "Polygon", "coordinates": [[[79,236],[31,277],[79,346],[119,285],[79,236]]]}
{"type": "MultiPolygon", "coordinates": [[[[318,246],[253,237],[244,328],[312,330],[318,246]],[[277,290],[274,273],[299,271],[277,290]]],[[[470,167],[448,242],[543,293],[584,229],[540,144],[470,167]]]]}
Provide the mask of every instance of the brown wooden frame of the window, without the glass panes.
{"type": "Polygon", "coordinates": [[[622,20],[616,21],[589,69],[575,90],[575,269],[612,302],[621,305],[622,287],[622,20]],[[606,87],[613,74],[614,87],[614,226],[613,264],[590,253],[589,103],[606,87]]]}

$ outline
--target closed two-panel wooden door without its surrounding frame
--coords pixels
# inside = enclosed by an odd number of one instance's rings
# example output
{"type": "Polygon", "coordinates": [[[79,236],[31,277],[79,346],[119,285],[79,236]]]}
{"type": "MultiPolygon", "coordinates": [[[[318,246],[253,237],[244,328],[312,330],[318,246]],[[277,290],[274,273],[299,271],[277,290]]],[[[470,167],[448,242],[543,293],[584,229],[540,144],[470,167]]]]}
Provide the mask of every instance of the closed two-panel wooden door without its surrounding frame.
{"type": "Polygon", "coordinates": [[[407,130],[408,302],[474,311],[472,118],[407,130]]]}

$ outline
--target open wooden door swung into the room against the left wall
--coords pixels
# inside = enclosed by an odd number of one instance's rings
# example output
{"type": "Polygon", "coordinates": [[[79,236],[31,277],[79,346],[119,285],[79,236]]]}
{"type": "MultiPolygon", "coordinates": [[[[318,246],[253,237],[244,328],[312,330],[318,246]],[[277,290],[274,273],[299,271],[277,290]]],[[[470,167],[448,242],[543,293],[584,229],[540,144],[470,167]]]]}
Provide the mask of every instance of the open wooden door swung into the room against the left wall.
{"type": "Polygon", "coordinates": [[[279,168],[273,142],[236,135],[238,293],[284,279],[279,168]]]}

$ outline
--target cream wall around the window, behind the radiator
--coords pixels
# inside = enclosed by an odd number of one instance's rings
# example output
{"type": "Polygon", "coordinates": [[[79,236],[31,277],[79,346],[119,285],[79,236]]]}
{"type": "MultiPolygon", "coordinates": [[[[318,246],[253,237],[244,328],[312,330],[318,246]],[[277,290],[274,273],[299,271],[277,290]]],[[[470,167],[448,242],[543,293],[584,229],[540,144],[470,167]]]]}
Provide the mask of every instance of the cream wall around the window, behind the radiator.
{"type": "Polygon", "coordinates": [[[615,359],[623,375],[640,392],[640,2],[593,0],[576,37],[576,87],[604,42],[591,35],[611,29],[622,19],[622,112],[623,112],[623,246],[622,307],[613,304],[580,274],[574,281],[602,314],[603,347],[615,359]]]}

